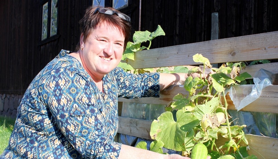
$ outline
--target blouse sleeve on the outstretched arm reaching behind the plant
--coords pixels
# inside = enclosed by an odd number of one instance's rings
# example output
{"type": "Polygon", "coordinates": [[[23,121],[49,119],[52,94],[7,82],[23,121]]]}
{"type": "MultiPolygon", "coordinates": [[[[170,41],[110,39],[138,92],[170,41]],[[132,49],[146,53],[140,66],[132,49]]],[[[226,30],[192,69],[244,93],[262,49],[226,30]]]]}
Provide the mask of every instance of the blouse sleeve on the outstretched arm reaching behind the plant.
{"type": "Polygon", "coordinates": [[[142,98],[159,97],[159,73],[131,74],[122,68],[115,69],[115,76],[120,88],[119,97],[142,98]]]}

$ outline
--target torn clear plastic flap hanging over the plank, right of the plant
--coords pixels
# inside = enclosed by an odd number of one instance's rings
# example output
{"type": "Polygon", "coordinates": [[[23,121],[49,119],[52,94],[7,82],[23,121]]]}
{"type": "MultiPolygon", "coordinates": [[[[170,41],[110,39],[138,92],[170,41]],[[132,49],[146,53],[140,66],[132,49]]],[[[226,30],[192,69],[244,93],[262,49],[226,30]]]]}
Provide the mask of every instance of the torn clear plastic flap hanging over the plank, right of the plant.
{"type": "Polygon", "coordinates": [[[261,68],[254,75],[254,85],[234,85],[228,90],[237,111],[258,99],[261,90],[272,85],[272,74],[261,68]]]}

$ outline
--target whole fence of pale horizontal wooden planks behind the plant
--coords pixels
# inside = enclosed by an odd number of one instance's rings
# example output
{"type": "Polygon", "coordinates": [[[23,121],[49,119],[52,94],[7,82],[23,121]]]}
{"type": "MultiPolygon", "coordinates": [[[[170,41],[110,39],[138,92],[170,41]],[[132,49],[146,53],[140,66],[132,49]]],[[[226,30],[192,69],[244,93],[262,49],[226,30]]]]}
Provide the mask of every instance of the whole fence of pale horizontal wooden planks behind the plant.
{"type": "MultiPolygon", "coordinates": [[[[226,63],[238,61],[253,61],[262,59],[278,59],[278,31],[211,40],[192,44],[170,46],[143,50],[135,54],[135,61],[128,63],[133,68],[158,68],[170,66],[196,65],[192,56],[196,53],[208,58],[211,63],[226,63]]],[[[278,73],[278,63],[247,66],[244,72],[254,74],[260,68],[278,73]]],[[[160,98],[119,98],[119,102],[134,102],[146,104],[168,104],[178,93],[188,94],[183,87],[174,86],[173,89],[160,92],[160,98]]],[[[229,96],[228,109],[235,110],[229,96]]],[[[269,85],[262,90],[260,97],[244,107],[241,111],[278,113],[278,85],[269,85]]],[[[118,133],[151,139],[150,127],[152,121],[119,117],[118,133]]],[[[246,134],[250,154],[258,158],[277,158],[278,138],[246,134]]]]}

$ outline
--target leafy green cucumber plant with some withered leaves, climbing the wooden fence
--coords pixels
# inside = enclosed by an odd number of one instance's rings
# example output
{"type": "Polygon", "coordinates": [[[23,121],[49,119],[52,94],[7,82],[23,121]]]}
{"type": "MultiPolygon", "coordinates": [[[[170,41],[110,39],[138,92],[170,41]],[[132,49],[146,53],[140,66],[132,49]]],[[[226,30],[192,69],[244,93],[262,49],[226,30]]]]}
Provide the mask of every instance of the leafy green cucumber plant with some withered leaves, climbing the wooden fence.
{"type": "MultiPolygon", "coordinates": [[[[209,60],[201,54],[194,55],[193,60],[203,63],[204,68],[211,68],[209,60]]],[[[246,125],[231,126],[227,112],[225,91],[231,85],[238,85],[251,77],[246,72],[240,74],[243,68],[243,62],[225,63],[213,69],[215,73],[208,78],[186,78],[184,89],[189,93],[174,96],[173,101],[166,106],[166,112],[151,124],[150,136],[155,140],[152,147],[159,150],[156,152],[161,153],[161,148],[165,147],[181,151],[183,156],[190,156],[193,146],[202,143],[212,159],[257,158],[248,155],[249,146],[239,145],[241,142],[248,145],[242,130],[246,125]],[[220,136],[226,139],[225,143],[215,142],[220,136]],[[157,143],[159,145],[154,146],[157,143]]],[[[189,70],[188,74],[191,73],[201,75],[203,72],[196,67],[189,70]]],[[[137,146],[142,147],[141,144],[145,143],[140,142],[137,146]]]]}

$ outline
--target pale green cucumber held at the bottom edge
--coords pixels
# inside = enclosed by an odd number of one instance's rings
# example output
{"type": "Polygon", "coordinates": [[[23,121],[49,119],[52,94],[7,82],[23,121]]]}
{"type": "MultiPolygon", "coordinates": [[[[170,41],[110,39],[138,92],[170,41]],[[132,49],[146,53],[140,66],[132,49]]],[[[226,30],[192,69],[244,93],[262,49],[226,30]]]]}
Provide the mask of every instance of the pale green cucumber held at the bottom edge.
{"type": "Polygon", "coordinates": [[[208,156],[208,149],[202,143],[197,143],[193,146],[191,151],[191,159],[206,159],[208,156]]]}

